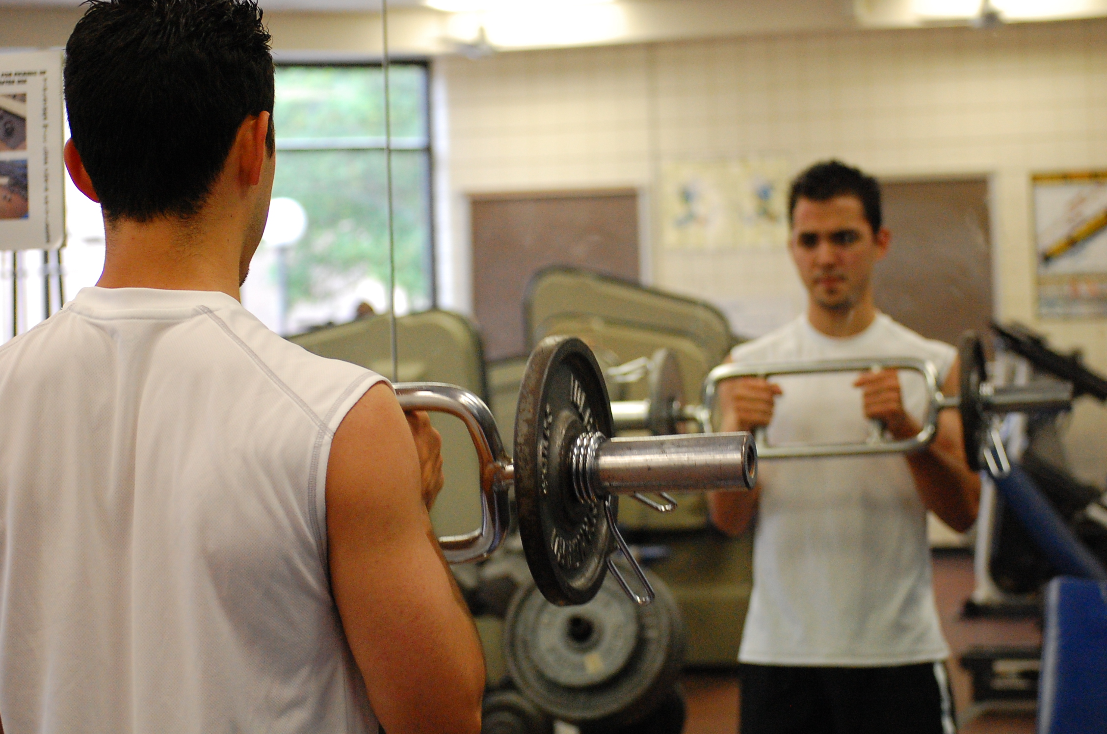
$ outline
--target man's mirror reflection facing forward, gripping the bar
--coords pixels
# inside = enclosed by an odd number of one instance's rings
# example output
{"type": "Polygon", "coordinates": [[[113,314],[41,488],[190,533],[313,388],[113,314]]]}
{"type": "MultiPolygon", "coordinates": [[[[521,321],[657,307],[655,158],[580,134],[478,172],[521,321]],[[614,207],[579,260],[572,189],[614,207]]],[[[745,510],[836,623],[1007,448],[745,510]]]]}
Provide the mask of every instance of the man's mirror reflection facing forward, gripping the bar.
{"type": "MultiPolygon", "coordinates": [[[[876,179],[837,161],[801,173],[789,196],[789,251],[807,312],[734,349],[739,363],[913,356],[958,392],[956,351],[880,313],[872,269],[891,235],[876,179]]],[[[734,380],[721,387],[723,430],[767,426],[768,441],[907,438],[925,410],[922,381],[861,375],[734,380]]],[[[952,701],[931,585],[927,511],[956,530],[976,517],[956,411],[908,455],[763,462],[749,493],[714,494],[712,519],[742,533],[757,515],[754,589],[738,659],[742,732],[950,734],[952,701]]]]}

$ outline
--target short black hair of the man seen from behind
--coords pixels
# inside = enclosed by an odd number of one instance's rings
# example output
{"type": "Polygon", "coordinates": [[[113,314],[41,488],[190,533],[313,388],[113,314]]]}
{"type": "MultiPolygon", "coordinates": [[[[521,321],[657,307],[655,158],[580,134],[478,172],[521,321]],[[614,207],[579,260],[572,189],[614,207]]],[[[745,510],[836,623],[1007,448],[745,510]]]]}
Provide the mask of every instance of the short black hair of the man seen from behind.
{"type": "Polygon", "coordinates": [[[104,216],[189,218],[242,121],[272,114],[261,9],[256,0],[86,4],[65,44],[65,108],[104,216]]]}

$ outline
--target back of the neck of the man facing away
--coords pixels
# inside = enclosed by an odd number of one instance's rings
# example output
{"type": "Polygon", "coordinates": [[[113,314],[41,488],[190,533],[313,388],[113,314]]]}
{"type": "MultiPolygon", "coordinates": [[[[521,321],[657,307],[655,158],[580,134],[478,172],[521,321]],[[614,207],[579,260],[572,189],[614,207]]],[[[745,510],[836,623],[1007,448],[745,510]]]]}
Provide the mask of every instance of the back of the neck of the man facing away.
{"type": "Polygon", "coordinates": [[[211,223],[213,217],[199,216],[107,224],[104,271],[96,286],[220,291],[240,300],[242,244],[235,241],[232,229],[211,223]]]}

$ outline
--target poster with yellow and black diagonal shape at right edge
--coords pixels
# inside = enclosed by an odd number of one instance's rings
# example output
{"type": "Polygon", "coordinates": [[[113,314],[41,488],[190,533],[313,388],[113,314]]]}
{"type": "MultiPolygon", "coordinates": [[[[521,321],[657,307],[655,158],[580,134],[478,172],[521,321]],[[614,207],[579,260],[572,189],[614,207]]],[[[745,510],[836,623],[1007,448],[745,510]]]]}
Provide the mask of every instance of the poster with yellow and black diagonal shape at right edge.
{"type": "Polygon", "coordinates": [[[1038,316],[1107,316],[1107,172],[1033,177],[1038,316]]]}

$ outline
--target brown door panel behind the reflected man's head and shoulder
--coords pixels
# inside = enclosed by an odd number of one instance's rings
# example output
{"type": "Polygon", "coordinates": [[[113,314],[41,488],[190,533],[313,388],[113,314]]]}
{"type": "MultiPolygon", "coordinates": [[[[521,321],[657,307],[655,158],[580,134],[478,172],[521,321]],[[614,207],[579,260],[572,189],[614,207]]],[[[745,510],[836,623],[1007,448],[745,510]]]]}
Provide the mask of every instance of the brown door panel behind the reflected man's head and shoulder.
{"type": "Polygon", "coordinates": [[[987,182],[881,183],[892,245],[877,266],[881,311],[923,337],[956,344],[992,318],[987,182]]]}

